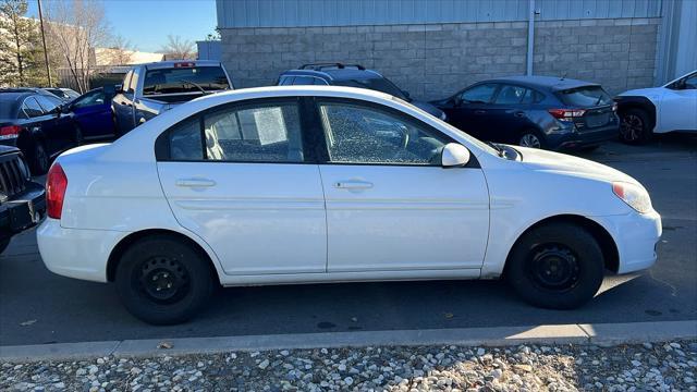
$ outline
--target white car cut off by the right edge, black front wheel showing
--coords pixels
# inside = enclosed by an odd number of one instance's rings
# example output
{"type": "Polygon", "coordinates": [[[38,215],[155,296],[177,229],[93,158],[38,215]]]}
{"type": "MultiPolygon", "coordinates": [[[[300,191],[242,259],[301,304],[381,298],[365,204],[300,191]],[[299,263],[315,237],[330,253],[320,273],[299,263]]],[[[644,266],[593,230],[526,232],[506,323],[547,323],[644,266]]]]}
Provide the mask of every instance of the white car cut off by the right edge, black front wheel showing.
{"type": "Polygon", "coordinates": [[[624,91],[614,99],[625,143],[641,144],[655,133],[697,132],[697,70],[661,87],[624,91]]]}

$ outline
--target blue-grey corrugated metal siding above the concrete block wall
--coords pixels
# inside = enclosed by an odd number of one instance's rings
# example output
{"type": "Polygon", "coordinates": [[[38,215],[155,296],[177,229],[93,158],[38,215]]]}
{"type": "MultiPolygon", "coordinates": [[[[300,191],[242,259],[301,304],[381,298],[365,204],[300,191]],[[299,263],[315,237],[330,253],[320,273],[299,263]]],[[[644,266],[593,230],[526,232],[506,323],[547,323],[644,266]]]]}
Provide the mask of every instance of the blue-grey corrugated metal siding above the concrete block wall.
{"type": "MultiPolygon", "coordinates": [[[[656,17],[663,1],[535,0],[539,21],[656,17]]],[[[693,0],[688,0],[693,1],[693,0]]],[[[218,26],[299,27],[527,21],[530,0],[217,0],[218,26]]]]}

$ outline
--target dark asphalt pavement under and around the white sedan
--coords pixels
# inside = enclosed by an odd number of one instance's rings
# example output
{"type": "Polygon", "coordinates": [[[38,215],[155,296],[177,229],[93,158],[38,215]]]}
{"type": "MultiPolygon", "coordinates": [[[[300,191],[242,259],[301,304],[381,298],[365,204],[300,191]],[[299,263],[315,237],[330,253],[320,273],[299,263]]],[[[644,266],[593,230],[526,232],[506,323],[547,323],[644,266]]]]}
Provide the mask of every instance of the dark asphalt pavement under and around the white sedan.
{"type": "Polygon", "coordinates": [[[580,309],[534,308],[499,281],[285,285],[220,290],[195,320],[152,327],[125,311],[112,284],[49,272],[29,231],[0,256],[0,345],[697,319],[697,137],[583,156],[639,180],[664,232],[653,268],[608,277],[580,309]]]}

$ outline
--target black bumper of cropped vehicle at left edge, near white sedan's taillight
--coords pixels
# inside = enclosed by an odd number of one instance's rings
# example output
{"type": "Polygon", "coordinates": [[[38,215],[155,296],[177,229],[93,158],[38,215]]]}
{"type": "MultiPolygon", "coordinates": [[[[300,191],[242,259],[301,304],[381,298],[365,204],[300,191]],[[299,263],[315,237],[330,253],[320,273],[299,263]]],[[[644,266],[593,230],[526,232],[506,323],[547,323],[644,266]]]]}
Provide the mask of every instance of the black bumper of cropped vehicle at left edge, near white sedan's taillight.
{"type": "Polygon", "coordinates": [[[46,216],[44,186],[27,182],[22,194],[0,204],[0,238],[35,226],[46,216]]]}

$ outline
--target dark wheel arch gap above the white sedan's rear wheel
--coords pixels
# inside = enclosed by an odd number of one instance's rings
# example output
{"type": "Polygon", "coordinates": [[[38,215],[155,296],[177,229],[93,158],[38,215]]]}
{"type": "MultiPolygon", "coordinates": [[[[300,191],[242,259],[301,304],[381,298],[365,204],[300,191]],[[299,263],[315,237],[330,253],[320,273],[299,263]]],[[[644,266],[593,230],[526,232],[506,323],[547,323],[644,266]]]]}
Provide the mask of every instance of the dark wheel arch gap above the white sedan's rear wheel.
{"type": "Polygon", "coordinates": [[[168,230],[168,229],[145,229],[140,231],[136,231],[130,233],[119,241],[119,243],[113,247],[111,253],[109,254],[109,258],[107,260],[107,281],[113,282],[117,275],[117,268],[119,267],[119,261],[121,260],[121,256],[126,252],[126,249],[135,244],[136,242],[149,237],[149,236],[169,236],[176,238],[179,241],[187,243],[196,252],[200,253],[201,257],[207,261],[208,268],[210,269],[210,273],[212,274],[216,282],[219,284],[220,274],[213,260],[213,257],[208,253],[208,250],[201,246],[197,241],[192,238],[191,236],[183,234],[178,231],[168,230]]]}

